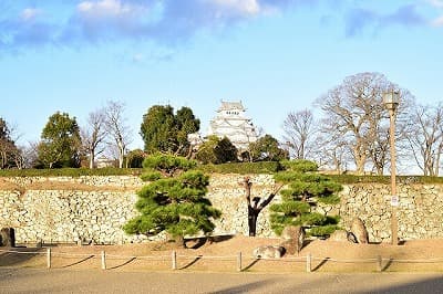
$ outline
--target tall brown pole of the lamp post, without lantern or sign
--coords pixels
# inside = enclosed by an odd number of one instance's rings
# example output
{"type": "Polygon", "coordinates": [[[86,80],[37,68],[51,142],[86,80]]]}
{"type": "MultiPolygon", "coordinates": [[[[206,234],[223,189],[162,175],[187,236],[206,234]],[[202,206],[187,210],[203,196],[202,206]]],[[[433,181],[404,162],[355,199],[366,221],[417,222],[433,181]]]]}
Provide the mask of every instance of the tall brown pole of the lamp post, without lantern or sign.
{"type": "MultiPolygon", "coordinates": [[[[389,109],[390,117],[390,149],[391,149],[391,195],[392,197],[398,197],[396,195],[396,181],[395,181],[395,109],[389,109]]],[[[391,204],[391,242],[392,245],[399,244],[399,224],[396,220],[396,204],[391,204]]]]}

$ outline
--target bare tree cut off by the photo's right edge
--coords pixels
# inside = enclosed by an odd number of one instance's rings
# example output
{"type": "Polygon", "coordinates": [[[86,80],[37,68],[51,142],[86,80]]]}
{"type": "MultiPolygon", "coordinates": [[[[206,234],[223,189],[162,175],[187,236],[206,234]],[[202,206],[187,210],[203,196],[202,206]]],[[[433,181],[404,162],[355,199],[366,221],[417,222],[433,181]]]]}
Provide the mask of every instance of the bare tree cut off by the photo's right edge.
{"type": "Polygon", "coordinates": [[[443,153],[443,104],[414,107],[406,134],[409,148],[424,176],[439,176],[443,153]]]}

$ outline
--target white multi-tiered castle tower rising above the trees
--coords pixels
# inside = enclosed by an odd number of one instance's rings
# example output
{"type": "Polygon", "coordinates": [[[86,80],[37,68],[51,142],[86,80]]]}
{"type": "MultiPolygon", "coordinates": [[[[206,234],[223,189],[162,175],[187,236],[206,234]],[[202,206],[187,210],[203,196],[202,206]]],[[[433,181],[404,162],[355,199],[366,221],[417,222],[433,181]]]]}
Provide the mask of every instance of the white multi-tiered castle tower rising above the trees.
{"type": "Polygon", "coordinates": [[[257,140],[257,133],[251,119],[246,117],[241,102],[224,102],[210,120],[208,136],[227,137],[239,151],[248,149],[250,143],[257,140]]]}

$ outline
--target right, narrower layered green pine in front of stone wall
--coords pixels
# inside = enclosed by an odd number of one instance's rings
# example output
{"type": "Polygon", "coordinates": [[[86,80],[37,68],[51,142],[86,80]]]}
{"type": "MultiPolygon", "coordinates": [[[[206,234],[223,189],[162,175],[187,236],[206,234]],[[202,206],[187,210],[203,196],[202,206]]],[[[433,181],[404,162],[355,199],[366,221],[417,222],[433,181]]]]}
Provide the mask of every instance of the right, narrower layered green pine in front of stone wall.
{"type": "Polygon", "coordinates": [[[341,185],[317,172],[318,166],[309,160],[282,162],[286,171],[275,175],[276,181],[287,183],[281,190],[281,202],[270,207],[271,228],[280,234],[287,225],[302,225],[311,235],[328,235],[338,227],[338,217],[312,211],[319,202],[339,202],[341,185]]]}

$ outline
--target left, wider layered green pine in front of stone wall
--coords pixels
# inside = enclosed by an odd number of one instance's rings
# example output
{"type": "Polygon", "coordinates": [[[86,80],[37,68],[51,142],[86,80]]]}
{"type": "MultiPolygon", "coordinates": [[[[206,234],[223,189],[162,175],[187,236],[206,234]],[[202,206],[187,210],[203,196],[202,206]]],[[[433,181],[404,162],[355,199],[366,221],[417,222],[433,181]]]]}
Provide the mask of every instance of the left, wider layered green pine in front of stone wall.
{"type": "Polygon", "coordinates": [[[209,177],[192,170],[195,161],[184,157],[156,154],[147,157],[142,176],[151,183],[138,191],[136,209],[140,216],[124,225],[130,234],[156,235],[166,231],[179,245],[184,237],[213,232],[213,219],[222,212],[205,198],[209,177]]]}

